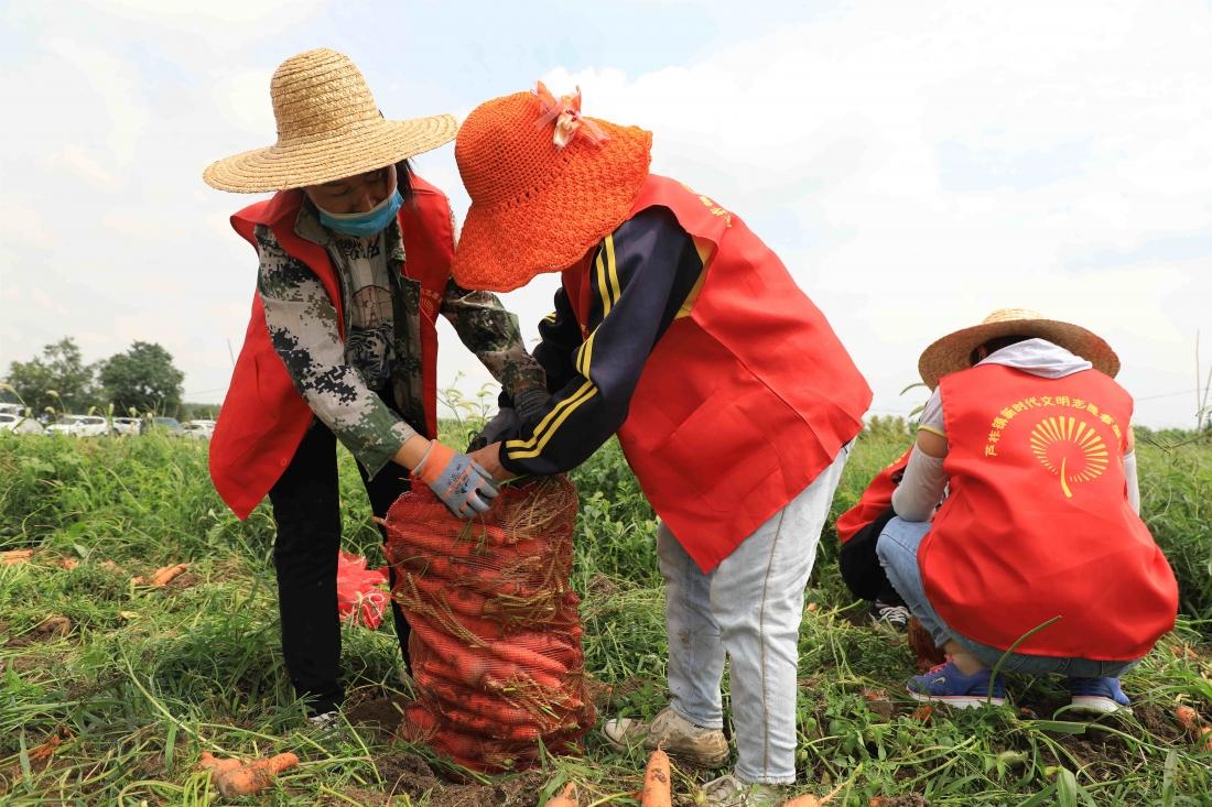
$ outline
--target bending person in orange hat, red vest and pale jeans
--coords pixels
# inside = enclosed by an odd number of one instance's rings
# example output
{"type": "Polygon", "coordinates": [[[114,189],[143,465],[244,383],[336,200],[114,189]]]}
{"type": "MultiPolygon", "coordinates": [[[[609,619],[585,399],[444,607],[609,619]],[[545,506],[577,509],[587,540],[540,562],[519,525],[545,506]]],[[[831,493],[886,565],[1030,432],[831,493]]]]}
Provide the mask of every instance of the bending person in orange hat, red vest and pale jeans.
{"type": "Polygon", "coordinates": [[[458,282],[562,280],[534,349],[544,416],[474,456],[497,479],[553,474],[618,434],[662,520],[673,699],[651,725],[611,721],[605,734],[721,766],[728,654],[739,760],[709,792],[760,803],[795,780],[804,588],[871,394],[744,222],[650,173],[650,132],[583,119],[579,105],[539,84],[459,130],[471,208],[458,282]]]}

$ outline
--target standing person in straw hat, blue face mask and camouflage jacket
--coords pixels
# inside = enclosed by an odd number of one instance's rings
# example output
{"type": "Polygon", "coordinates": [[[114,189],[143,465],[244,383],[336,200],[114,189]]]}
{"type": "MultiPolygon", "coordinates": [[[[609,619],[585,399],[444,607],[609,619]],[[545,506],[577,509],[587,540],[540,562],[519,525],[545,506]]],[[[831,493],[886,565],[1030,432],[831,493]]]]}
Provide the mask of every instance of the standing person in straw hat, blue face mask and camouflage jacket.
{"type": "MultiPolygon", "coordinates": [[[[520,408],[547,393],[513,315],[451,281],[450,206],[408,167],[453,138],[454,119],[384,120],[358,68],[330,50],[284,62],[270,95],[278,144],[204,174],[222,190],[276,191],[231,217],[261,267],[211,476],[241,519],[269,494],[282,654],[296,692],[324,717],[343,698],[336,441],[358,458],[376,515],[407,490],[411,470],[470,517],[497,488],[434,440],[438,314],[520,408]]],[[[408,625],[393,612],[407,662],[408,625]]]]}

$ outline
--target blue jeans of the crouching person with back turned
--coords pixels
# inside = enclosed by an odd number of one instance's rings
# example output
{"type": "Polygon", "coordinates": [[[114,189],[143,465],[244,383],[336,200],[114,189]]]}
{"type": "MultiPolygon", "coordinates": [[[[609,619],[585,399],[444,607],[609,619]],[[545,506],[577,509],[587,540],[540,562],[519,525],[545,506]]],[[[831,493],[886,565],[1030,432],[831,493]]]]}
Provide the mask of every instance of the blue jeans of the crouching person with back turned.
{"type": "Polygon", "coordinates": [[[985,666],[996,666],[1001,662],[1002,672],[1021,672],[1023,675],[1048,675],[1057,672],[1079,679],[1119,677],[1136,665],[1139,659],[1130,662],[1096,662],[1088,658],[1064,658],[1057,656],[1030,656],[1027,653],[1006,654],[1004,649],[974,642],[951,630],[926,596],[921,582],[921,566],[917,563],[917,545],[930,531],[928,521],[904,521],[892,519],[880,533],[875,554],[888,573],[892,586],[904,597],[913,616],[917,617],[922,628],[930,631],[934,645],[942,647],[948,640],[955,640],[985,666]],[[1001,660],[1006,656],[1005,660],[1001,660]]]}

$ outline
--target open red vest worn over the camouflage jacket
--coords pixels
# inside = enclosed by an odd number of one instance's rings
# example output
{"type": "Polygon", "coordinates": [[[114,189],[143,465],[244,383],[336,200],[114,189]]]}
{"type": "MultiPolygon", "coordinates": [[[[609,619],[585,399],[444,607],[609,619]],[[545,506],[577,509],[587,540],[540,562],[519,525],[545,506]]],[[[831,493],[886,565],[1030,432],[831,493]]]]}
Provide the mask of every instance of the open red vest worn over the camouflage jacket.
{"type": "MultiPolygon", "coordinates": [[[[421,355],[425,423],[429,435],[438,434],[438,332],[435,322],[450,264],[454,254],[454,233],[450,204],[435,187],[413,174],[412,201],[400,208],[406,261],[404,276],[421,285],[421,355]]],[[[341,282],[324,247],[295,234],[295,218],[303,204],[303,191],[287,190],[245,207],[231,217],[231,227],[257,246],[258,224],[273,230],[286,252],[315,273],[337,308],[337,328],[345,334],[341,282]]],[[[253,294],[252,316],[236,360],[218,424],[211,437],[211,480],[215,490],[240,519],[265,498],[295,457],[303,434],[311,423],[311,408],[295,389],[286,366],[269,339],[261,297],[253,294]]]]}

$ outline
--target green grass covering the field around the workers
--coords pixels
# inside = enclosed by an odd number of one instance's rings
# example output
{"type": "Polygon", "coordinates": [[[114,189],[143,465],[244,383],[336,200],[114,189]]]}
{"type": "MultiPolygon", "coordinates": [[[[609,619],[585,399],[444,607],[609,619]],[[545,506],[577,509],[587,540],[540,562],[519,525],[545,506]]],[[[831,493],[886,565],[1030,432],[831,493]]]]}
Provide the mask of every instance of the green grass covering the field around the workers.
{"type": "MultiPolygon", "coordinates": [[[[864,434],[835,510],[907,441],[896,424],[864,434]]],[[[1013,708],[915,710],[898,694],[913,659],[899,636],[857,618],[827,530],[800,641],[802,790],[845,784],[834,803],[861,807],[871,796],[902,805],[1212,805],[1212,752],[1197,751],[1172,717],[1176,704],[1189,703],[1212,719],[1212,445],[1206,436],[1183,442],[1140,440],[1145,519],[1179,577],[1184,616],[1125,677],[1131,719],[1054,719],[1064,696],[1048,679],[1012,681],[1013,708]]],[[[377,565],[378,533],[348,456],[341,471],[344,545],[377,565]]],[[[612,687],[601,711],[652,715],[665,699],[653,515],[613,443],[576,480],[573,583],[587,666],[612,687]]],[[[584,757],[458,784],[430,773],[457,772],[424,749],[371,727],[328,736],[304,728],[281,666],[273,533],[264,508],[241,523],[222,505],[205,446],[0,436],[0,549],[39,549],[33,562],[0,567],[0,803],[216,803],[193,772],[204,750],[291,750],[303,760],[264,796],[229,803],[528,807],[568,778],[582,783],[583,805],[635,803],[642,752],[616,752],[595,734],[584,757]],[[62,568],[67,557],[79,565],[62,568]],[[182,560],[193,566],[165,589],[131,584],[182,560]],[[67,617],[69,629],[40,630],[50,616],[67,617]]],[[[407,694],[396,652],[390,626],[345,633],[350,715],[407,694]]],[[[675,767],[675,803],[694,803],[710,775],[675,767]]]]}

